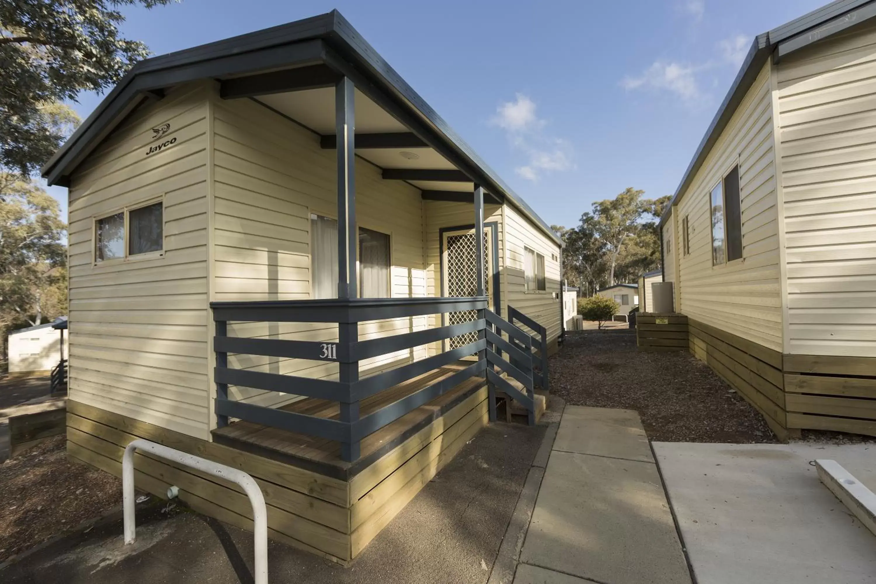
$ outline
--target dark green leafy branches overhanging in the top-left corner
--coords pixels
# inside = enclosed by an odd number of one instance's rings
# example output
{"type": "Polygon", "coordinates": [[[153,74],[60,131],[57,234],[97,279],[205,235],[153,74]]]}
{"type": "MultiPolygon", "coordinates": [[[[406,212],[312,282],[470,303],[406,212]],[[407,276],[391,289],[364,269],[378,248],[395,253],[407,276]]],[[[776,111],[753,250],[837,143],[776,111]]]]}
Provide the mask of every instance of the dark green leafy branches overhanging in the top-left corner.
{"type": "Polygon", "coordinates": [[[170,0],[0,0],[0,170],[30,176],[78,119],[63,102],[112,87],[148,51],[117,9],[170,0]]]}

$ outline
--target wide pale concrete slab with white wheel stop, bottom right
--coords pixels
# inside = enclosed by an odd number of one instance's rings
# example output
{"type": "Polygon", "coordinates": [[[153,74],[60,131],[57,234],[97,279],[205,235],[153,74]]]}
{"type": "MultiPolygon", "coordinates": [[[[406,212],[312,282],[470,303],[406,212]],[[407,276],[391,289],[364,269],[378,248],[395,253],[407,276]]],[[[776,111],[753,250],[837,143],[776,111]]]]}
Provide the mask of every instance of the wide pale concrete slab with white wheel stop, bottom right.
{"type": "Polygon", "coordinates": [[[848,461],[870,482],[872,445],[653,447],[699,584],[876,582],[876,537],[809,464],[848,461]]]}

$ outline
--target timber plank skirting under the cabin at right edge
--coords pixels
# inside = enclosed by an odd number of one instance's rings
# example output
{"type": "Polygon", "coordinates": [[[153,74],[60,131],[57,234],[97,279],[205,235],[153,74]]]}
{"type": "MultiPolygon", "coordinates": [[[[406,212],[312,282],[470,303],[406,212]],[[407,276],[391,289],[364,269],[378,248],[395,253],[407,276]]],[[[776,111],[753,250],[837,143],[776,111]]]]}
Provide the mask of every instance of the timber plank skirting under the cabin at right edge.
{"type": "Polygon", "coordinates": [[[780,440],[801,429],[876,436],[876,358],[782,355],[693,319],[689,348],[764,416],[780,440]]]}

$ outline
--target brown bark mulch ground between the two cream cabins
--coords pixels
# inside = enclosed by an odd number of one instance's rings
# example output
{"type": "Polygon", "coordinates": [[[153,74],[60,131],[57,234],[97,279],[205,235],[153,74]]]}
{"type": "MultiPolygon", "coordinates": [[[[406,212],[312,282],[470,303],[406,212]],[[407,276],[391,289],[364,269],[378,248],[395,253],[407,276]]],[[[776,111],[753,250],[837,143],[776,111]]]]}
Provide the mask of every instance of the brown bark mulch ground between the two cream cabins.
{"type": "Polygon", "coordinates": [[[551,393],[569,405],[636,410],[663,442],[777,442],[748,402],[688,351],[636,350],[631,329],[570,331],[550,358],[551,393]]]}

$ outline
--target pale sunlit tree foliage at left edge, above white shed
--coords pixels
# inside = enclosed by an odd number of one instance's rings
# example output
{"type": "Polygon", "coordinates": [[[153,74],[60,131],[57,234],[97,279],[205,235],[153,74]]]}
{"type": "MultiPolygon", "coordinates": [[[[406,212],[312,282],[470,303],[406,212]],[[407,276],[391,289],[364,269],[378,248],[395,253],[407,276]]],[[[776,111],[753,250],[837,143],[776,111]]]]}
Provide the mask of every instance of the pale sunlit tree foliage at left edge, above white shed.
{"type": "Polygon", "coordinates": [[[67,312],[67,226],[51,195],[0,172],[0,327],[67,312]]]}

